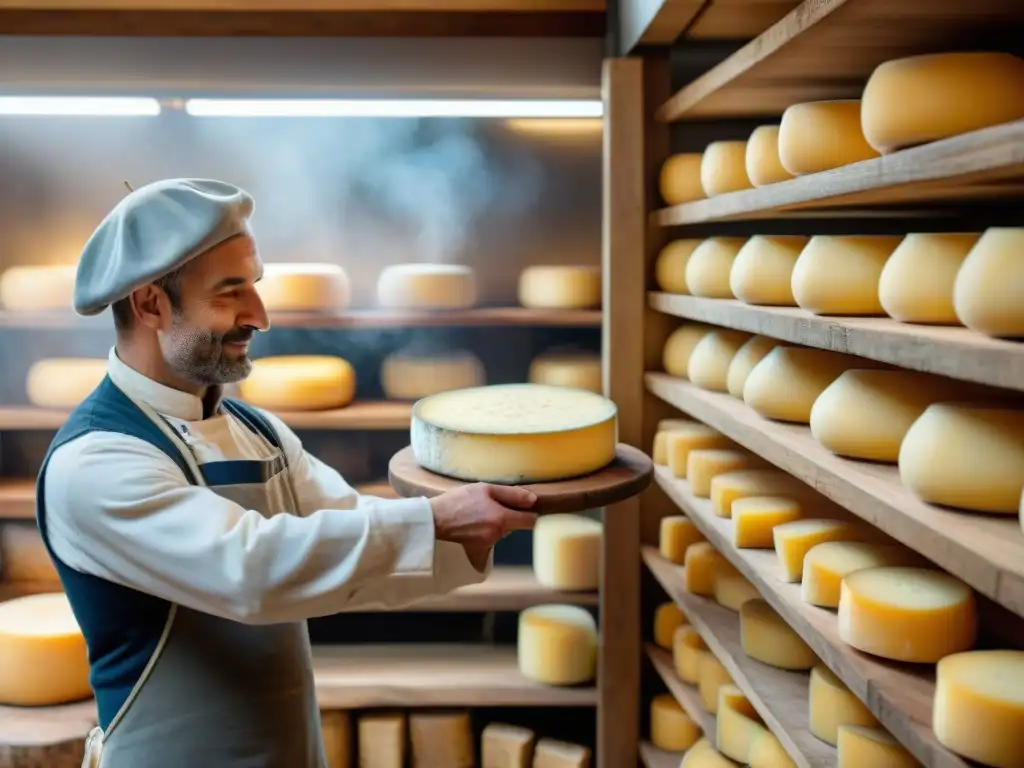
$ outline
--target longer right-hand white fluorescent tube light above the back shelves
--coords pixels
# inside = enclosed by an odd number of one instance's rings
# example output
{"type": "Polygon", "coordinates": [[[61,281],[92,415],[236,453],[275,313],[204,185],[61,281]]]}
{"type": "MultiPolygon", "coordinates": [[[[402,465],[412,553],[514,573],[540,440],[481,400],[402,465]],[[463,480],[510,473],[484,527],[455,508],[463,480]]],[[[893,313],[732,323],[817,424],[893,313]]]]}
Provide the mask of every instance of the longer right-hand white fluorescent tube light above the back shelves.
{"type": "Polygon", "coordinates": [[[596,99],[213,99],[190,98],[197,117],[247,118],[599,118],[596,99]]]}

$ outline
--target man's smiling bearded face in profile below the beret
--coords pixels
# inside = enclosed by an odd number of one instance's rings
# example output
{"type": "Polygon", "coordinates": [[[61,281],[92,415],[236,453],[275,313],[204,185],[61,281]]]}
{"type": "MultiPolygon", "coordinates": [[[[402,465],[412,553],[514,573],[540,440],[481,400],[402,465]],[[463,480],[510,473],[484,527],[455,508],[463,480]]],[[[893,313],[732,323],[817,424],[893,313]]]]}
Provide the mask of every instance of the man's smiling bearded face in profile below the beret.
{"type": "Polygon", "coordinates": [[[269,328],[256,282],[263,263],[249,236],[221,243],[182,270],[179,306],[160,334],[164,359],[175,374],[200,386],[228,384],[252,371],[249,342],[269,328]]]}

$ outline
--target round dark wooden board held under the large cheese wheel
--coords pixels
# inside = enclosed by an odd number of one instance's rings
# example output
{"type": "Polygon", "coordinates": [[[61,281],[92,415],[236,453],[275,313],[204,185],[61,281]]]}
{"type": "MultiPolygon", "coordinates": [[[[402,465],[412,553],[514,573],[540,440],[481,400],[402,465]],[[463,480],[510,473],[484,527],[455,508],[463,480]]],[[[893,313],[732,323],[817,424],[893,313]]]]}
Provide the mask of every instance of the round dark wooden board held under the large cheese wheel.
{"type": "MultiPolygon", "coordinates": [[[[387,468],[388,482],[398,496],[434,497],[445,490],[468,484],[465,480],[430,472],[413,456],[408,445],[391,457],[387,468]]],[[[654,476],[654,465],[642,452],[620,443],[615,459],[604,469],[571,480],[535,482],[521,487],[537,494],[537,504],[531,511],[541,514],[553,512],[583,512],[631,499],[640,494],[654,476]]]]}

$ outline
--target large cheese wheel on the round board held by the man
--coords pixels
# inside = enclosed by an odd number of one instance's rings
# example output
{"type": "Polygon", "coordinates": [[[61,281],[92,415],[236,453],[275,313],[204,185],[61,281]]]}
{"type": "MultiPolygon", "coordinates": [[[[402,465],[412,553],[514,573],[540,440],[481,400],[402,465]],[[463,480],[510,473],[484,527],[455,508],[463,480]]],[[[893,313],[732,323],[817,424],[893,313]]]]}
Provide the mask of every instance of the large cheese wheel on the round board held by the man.
{"type": "Polygon", "coordinates": [[[582,389],[503,384],[413,407],[413,455],[461,480],[528,483],[596,472],[615,458],[615,404],[582,389]]]}

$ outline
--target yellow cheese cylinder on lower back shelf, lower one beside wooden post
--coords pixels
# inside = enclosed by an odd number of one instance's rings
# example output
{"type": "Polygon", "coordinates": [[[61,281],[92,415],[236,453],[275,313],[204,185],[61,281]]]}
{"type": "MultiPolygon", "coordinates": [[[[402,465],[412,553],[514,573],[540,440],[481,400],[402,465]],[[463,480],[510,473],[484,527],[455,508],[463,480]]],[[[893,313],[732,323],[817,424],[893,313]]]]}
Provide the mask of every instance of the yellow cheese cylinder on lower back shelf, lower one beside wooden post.
{"type": "Polygon", "coordinates": [[[519,672],[547,685],[590,682],[597,671],[597,623],[579,605],[534,605],[519,613],[519,672]]]}

